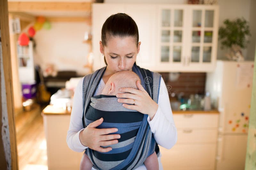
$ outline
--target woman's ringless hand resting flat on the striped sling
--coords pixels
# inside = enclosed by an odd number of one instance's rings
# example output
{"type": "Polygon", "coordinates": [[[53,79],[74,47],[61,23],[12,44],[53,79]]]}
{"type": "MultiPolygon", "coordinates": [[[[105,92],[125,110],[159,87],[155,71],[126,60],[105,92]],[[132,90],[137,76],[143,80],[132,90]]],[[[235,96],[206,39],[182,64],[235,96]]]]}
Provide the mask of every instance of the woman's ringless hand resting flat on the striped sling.
{"type": "Polygon", "coordinates": [[[90,149],[98,152],[109,152],[111,147],[103,148],[100,146],[108,146],[118,143],[119,134],[111,134],[118,131],[117,128],[96,129],[97,126],[102,124],[103,118],[90,123],[83,131],[79,133],[79,139],[82,145],[88,146],[90,149]]]}

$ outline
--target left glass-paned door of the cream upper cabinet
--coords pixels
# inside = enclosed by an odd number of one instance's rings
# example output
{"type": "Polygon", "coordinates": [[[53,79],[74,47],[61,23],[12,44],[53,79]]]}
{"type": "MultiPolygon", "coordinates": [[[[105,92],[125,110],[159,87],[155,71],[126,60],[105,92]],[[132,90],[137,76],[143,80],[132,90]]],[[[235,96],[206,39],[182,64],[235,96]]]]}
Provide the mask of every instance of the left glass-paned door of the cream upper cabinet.
{"type": "Polygon", "coordinates": [[[180,63],[183,53],[183,9],[161,9],[161,63],[180,63]]]}

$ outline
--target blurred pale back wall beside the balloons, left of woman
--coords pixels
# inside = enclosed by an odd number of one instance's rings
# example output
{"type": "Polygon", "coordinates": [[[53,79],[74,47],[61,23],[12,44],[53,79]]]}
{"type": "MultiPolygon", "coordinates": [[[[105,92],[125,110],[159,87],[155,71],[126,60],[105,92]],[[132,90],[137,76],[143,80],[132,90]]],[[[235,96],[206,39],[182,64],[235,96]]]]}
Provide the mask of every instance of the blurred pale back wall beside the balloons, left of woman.
{"type": "Polygon", "coordinates": [[[88,70],[83,66],[87,63],[89,46],[82,42],[84,32],[89,31],[90,27],[82,22],[51,24],[50,30],[36,32],[34,63],[41,67],[50,63],[58,70],[76,70],[78,74],[86,74],[88,70]]]}

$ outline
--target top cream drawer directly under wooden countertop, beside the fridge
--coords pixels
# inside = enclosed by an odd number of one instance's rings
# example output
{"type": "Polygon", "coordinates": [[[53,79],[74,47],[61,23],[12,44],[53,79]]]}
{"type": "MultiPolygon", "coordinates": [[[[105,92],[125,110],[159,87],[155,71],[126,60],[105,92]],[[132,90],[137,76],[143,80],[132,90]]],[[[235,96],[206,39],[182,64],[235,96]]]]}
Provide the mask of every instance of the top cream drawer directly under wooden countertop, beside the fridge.
{"type": "Polygon", "coordinates": [[[218,114],[173,114],[177,128],[216,128],[218,114]]]}

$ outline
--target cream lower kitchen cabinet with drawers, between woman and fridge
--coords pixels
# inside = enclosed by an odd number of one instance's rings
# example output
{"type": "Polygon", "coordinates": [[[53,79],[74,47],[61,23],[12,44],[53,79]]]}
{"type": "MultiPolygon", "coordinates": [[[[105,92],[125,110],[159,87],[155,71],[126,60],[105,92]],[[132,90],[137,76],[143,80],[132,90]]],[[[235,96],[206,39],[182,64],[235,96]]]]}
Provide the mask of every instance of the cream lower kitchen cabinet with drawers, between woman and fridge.
{"type": "Polygon", "coordinates": [[[217,143],[218,113],[173,114],[178,140],[171,149],[161,146],[164,169],[213,170],[217,143]]]}

